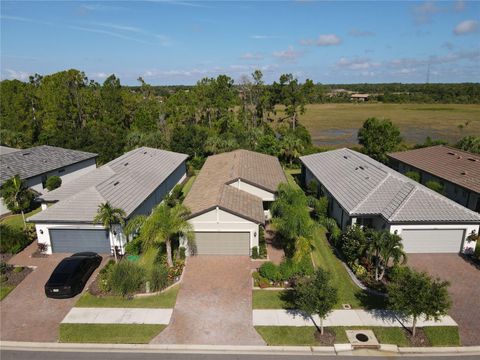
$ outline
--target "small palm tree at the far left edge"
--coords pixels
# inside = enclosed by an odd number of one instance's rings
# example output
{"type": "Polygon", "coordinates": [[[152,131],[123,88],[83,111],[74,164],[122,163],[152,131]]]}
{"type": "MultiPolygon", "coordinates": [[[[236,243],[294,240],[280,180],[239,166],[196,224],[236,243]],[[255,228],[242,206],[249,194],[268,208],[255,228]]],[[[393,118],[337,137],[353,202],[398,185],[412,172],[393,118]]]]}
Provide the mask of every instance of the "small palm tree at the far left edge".
{"type": "Polygon", "coordinates": [[[27,187],[25,181],[22,181],[19,175],[15,175],[3,184],[0,193],[8,210],[22,213],[23,228],[26,229],[25,210],[30,208],[33,193],[27,187]]]}

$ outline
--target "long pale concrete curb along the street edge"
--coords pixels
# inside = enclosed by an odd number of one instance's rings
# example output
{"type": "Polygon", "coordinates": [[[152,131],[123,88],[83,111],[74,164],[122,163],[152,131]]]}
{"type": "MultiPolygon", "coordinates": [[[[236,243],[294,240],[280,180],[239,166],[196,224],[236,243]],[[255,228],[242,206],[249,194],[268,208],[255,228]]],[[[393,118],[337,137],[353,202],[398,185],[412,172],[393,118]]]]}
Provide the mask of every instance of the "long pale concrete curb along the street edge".
{"type": "MultiPolygon", "coordinates": [[[[278,354],[278,355],[346,355],[355,354],[351,344],[334,346],[250,346],[250,345],[185,345],[185,344],[93,344],[93,343],[45,343],[0,341],[1,350],[24,351],[73,351],[73,352],[151,352],[151,353],[200,353],[200,354],[278,354]]],[[[381,344],[378,355],[480,355],[480,346],[459,347],[397,347],[381,344]]],[[[358,354],[360,355],[360,354],[358,354]]],[[[373,353],[370,353],[373,356],[373,353]]]]}

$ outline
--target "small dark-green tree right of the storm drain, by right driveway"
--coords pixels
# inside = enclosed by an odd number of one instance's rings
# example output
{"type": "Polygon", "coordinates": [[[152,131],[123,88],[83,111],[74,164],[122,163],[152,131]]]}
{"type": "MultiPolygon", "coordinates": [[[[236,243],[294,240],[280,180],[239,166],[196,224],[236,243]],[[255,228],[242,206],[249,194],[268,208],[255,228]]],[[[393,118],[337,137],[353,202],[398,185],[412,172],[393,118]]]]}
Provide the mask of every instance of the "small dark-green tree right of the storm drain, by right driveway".
{"type": "Polygon", "coordinates": [[[396,267],[387,285],[388,306],[412,318],[412,336],[418,319],[439,320],[451,306],[447,281],[434,280],[424,272],[408,267],[396,267]]]}

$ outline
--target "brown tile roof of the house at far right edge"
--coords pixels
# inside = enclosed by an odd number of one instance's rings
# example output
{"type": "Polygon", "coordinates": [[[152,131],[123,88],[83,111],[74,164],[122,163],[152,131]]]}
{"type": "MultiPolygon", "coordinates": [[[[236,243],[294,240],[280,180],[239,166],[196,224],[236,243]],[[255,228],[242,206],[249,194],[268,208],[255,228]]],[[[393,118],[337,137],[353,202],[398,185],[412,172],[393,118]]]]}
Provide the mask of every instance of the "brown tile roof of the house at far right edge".
{"type": "Polygon", "coordinates": [[[438,145],[388,154],[419,170],[480,193],[480,155],[438,145]]]}

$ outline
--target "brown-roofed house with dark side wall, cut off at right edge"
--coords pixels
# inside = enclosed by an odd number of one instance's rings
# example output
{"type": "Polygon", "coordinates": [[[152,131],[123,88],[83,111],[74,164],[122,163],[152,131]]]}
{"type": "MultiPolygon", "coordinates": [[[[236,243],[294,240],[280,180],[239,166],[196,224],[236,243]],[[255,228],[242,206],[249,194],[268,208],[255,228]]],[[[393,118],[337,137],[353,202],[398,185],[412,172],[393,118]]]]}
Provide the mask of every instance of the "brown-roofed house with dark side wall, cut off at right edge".
{"type": "Polygon", "coordinates": [[[446,197],[480,212],[480,155],[438,145],[388,156],[395,170],[417,172],[422,184],[437,181],[446,197]]]}

